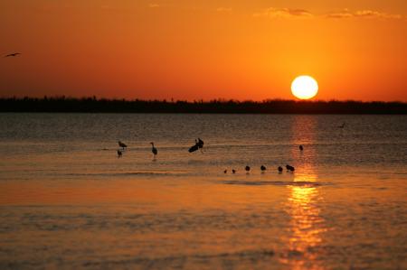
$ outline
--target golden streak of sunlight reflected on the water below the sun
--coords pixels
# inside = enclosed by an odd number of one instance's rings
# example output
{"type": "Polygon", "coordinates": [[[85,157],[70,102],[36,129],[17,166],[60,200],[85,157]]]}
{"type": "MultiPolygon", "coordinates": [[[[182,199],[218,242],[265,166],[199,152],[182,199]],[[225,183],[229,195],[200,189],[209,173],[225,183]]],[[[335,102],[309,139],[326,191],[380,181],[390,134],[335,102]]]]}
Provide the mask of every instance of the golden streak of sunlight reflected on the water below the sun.
{"type": "Polygon", "coordinates": [[[289,200],[287,211],[289,222],[288,255],[283,259],[292,269],[325,269],[318,262],[316,248],[324,242],[323,233],[327,231],[325,220],[320,216],[319,203],[323,200],[314,172],[313,162],[316,151],[312,147],[315,137],[316,119],[308,116],[297,116],[293,121],[293,144],[307,142],[306,156],[299,156],[298,150],[293,150],[293,156],[298,160],[298,172],[295,172],[294,182],[289,185],[289,200]]]}

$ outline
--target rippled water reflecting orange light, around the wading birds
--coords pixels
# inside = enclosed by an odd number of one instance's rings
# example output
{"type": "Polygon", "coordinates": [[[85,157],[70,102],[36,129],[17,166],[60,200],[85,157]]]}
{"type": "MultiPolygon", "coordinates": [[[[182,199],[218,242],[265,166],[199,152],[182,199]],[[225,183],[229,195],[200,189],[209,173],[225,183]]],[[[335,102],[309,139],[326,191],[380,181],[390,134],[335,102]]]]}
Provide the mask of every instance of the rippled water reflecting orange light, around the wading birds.
{"type": "Polygon", "coordinates": [[[0,114],[0,268],[405,269],[406,149],[407,116],[0,114]]]}

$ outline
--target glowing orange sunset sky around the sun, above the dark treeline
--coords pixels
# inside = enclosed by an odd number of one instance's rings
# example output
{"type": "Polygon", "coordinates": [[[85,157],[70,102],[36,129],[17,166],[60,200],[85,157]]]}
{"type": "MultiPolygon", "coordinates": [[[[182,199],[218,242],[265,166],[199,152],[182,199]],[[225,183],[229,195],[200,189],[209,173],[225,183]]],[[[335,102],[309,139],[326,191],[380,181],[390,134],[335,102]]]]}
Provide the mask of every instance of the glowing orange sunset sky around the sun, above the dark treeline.
{"type": "Polygon", "coordinates": [[[406,48],[405,0],[2,0],[0,97],[407,101],[406,48]]]}

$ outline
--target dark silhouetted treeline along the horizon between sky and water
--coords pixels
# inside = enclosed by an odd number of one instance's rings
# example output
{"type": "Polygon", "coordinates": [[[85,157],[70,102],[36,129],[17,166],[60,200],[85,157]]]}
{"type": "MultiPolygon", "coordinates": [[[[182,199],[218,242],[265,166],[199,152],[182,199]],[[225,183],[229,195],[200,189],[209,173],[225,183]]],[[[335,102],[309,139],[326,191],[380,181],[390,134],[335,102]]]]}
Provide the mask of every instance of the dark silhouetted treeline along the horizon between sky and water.
{"type": "Polygon", "coordinates": [[[106,98],[0,98],[0,112],[203,114],[407,114],[407,103],[362,101],[126,100],[106,98]]]}

